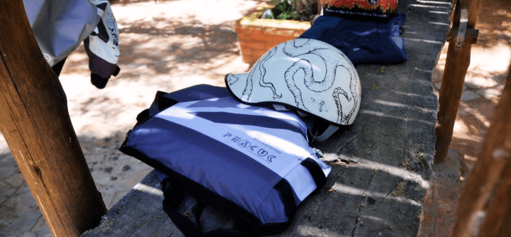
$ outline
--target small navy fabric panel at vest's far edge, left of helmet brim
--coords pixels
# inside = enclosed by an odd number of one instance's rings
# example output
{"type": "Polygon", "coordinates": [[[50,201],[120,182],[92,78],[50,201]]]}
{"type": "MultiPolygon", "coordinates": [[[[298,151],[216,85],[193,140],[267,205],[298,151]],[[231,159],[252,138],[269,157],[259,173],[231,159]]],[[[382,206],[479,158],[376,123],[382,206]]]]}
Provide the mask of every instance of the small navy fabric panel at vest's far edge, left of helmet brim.
{"type": "Polygon", "coordinates": [[[202,99],[212,99],[231,96],[225,87],[211,85],[196,85],[166,94],[165,97],[179,102],[188,102],[202,99]]]}

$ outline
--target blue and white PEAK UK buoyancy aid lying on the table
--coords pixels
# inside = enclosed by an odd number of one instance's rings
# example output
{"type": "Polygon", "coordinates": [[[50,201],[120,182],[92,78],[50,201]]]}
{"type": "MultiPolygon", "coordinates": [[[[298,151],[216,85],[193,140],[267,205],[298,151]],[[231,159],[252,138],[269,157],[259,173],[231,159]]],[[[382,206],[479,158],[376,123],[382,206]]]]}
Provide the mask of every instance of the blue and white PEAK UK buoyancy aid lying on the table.
{"type": "Polygon", "coordinates": [[[226,88],[205,85],[165,97],[180,102],[160,110],[155,101],[150,118],[128,133],[121,151],[199,183],[262,226],[289,224],[288,207],[294,210],[324,185],[331,168],[315,155],[307,125],[294,112],[247,106],[226,88]],[[276,188],[283,183],[292,193],[276,188]]]}

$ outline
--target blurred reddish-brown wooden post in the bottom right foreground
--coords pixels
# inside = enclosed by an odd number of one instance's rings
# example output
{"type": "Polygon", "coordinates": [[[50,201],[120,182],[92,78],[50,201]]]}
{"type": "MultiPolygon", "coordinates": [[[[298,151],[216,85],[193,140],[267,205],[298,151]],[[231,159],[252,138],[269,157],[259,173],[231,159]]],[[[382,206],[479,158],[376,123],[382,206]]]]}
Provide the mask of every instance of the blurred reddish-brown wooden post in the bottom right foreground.
{"type": "Polygon", "coordinates": [[[459,199],[455,237],[511,236],[511,68],[481,154],[459,199]]]}

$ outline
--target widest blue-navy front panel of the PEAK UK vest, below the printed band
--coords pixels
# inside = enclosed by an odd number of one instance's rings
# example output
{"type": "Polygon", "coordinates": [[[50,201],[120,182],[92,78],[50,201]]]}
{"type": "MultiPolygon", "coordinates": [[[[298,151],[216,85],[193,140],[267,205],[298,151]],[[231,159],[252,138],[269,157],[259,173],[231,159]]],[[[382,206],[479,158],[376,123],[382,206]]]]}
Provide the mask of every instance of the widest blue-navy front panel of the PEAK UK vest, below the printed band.
{"type": "Polygon", "coordinates": [[[126,144],[254,215],[258,215],[257,208],[282,179],[215,139],[157,117],[135,127],[126,144]]]}

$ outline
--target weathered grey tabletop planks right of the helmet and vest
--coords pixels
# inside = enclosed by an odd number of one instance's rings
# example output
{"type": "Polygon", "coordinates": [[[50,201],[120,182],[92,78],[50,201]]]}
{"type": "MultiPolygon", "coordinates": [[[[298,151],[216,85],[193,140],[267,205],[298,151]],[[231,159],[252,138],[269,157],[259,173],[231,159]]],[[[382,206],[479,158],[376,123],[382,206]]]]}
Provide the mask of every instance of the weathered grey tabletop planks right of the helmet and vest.
{"type": "MultiPolygon", "coordinates": [[[[332,166],[327,184],[300,205],[291,226],[276,236],[416,235],[435,144],[438,100],[431,75],[449,30],[452,6],[450,0],[399,4],[398,11],[407,15],[402,36],[408,61],[357,67],[362,99],[355,123],[327,141],[313,143],[332,166]]],[[[133,220],[151,219],[136,211],[130,215],[133,220]]],[[[109,217],[108,223],[117,219],[109,217]]],[[[105,235],[95,231],[87,236],[105,235]]]]}

